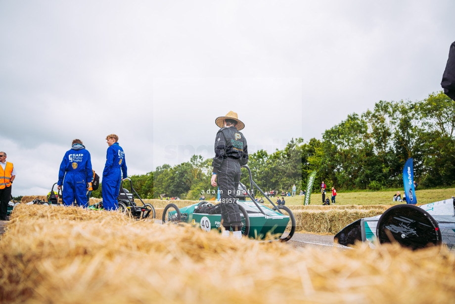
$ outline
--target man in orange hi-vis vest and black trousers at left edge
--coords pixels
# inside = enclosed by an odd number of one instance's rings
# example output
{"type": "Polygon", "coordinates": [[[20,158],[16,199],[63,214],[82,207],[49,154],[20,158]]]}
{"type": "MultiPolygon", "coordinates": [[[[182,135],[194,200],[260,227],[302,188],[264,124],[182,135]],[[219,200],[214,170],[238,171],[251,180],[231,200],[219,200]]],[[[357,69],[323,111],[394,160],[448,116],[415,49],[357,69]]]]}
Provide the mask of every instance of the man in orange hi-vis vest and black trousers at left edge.
{"type": "Polygon", "coordinates": [[[16,178],[16,170],[6,161],[6,153],[0,152],[0,220],[7,221],[7,208],[11,197],[11,185],[16,178]]]}

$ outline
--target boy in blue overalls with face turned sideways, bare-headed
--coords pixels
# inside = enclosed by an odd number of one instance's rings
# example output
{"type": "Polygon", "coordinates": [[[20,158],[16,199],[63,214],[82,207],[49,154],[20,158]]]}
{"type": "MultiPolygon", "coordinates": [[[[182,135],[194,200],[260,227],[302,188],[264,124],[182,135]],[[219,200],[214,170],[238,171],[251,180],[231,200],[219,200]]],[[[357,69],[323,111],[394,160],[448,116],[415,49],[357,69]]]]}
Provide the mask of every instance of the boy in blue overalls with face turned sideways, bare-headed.
{"type": "Polygon", "coordinates": [[[117,143],[119,137],[110,134],[106,137],[107,148],[106,164],[104,165],[101,192],[103,196],[104,210],[117,210],[119,204],[117,197],[120,190],[120,182],[127,178],[127,163],[125,161],[125,152],[117,143]],[[123,173],[123,177],[122,177],[123,173]]]}

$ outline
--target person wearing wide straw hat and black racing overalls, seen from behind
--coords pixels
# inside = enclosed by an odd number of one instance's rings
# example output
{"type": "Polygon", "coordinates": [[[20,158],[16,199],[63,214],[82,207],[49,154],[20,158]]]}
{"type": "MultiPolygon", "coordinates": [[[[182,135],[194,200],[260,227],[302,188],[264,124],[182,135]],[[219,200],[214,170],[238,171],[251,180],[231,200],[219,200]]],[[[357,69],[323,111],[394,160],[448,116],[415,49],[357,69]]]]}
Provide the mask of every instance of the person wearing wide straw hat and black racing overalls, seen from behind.
{"type": "Polygon", "coordinates": [[[215,119],[221,129],[215,137],[215,157],[213,158],[212,186],[220,187],[221,220],[225,231],[223,236],[229,236],[232,227],[233,236],[240,239],[242,219],[235,199],[240,181],[240,167],[248,163],[248,149],[246,139],[240,130],[245,124],[237,117],[237,113],[230,111],[226,116],[215,119]]]}

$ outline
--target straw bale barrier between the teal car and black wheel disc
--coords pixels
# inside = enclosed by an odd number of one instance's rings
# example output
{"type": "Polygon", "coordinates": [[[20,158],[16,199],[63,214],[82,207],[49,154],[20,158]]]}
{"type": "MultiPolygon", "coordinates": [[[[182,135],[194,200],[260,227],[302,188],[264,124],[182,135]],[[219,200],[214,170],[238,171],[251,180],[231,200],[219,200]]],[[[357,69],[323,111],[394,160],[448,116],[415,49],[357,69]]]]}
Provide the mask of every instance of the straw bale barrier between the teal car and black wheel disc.
{"type": "Polygon", "coordinates": [[[384,210],[295,210],[293,213],[297,232],[336,234],[350,223],[363,217],[380,215],[384,210]]]}

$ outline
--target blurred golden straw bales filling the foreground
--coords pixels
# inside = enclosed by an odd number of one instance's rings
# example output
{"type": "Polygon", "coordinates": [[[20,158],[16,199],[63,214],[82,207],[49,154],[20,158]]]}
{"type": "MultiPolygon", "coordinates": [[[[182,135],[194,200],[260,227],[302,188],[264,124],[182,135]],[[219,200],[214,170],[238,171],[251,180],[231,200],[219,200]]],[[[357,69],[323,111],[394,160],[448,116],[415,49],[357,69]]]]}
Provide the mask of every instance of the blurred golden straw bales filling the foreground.
{"type": "Polygon", "coordinates": [[[44,217],[37,207],[14,212],[0,239],[2,303],[454,302],[455,255],[436,248],[294,250],[116,212],[44,217]]]}

